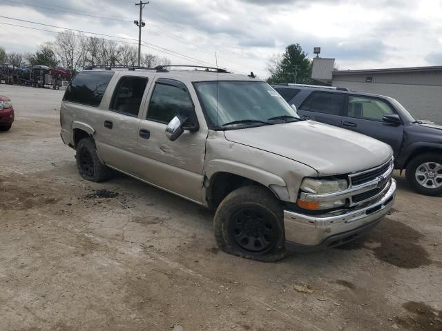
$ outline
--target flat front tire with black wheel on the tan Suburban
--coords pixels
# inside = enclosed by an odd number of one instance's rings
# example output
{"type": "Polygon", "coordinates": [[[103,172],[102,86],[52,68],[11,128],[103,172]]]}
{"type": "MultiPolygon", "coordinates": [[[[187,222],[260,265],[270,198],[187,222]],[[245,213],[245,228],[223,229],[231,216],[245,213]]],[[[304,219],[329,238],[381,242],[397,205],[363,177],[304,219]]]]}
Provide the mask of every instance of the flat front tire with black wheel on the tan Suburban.
{"type": "Polygon", "coordinates": [[[221,250],[238,257],[278,261],[286,255],[283,217],[282,205],[265,188],[238,188],[216,210],[216,242],[221,250]]]}

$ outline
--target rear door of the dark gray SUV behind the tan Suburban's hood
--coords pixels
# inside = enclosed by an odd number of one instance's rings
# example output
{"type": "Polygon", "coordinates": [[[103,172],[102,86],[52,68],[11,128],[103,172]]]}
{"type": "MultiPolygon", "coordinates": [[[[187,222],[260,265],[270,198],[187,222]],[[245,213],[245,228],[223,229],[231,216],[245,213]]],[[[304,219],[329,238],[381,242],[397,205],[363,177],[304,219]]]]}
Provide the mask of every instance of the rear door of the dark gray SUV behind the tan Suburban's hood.
{"type": "Polygon", "coordinates": [[[305,119],[340,126],[344,99],[343,93],[314,91],[302,103],[298,114],[305,119]]]}

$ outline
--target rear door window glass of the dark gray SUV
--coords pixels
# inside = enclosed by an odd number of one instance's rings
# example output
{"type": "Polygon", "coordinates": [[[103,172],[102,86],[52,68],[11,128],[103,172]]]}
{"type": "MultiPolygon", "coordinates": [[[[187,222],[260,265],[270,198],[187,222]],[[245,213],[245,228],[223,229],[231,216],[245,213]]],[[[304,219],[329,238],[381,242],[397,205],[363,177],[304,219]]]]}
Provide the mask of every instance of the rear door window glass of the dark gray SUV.
{"type": "Polygon", "coordinates": [[[343,106],[344,94],[313,92],[299,109],[310,112],[322,112],[323,114],[341,115],[343,106]]]}

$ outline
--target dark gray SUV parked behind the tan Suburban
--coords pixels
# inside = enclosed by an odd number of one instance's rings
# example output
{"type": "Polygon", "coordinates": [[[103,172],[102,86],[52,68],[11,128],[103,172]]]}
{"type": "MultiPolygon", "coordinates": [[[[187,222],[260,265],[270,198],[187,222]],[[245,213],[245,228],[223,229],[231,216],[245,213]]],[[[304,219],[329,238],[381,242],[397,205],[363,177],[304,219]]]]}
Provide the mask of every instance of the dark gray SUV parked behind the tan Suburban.
{"type": "Polygon", "coordinates": [[[343,88],[273,86],[305,119],[361,132],[394,150],[394,164],[421,194],[442,194],[442,126],[416,121],[401,103],[343,88]]]}

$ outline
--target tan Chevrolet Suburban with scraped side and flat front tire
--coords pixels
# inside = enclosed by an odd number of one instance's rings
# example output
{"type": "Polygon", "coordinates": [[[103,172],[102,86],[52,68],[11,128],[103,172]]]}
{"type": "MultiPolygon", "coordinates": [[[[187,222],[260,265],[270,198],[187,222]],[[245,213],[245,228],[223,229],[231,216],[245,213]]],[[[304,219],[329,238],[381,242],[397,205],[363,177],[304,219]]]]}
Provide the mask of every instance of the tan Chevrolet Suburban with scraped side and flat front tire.
{"type": "Polygon", "coordinates": [[[347,243],[390,210],[390,146],[300,119],[253,74],[198,69],[79,72],[60,123],[81,177],[117,170],[216,210],[220,248],[259,261],[347,243]]]}

